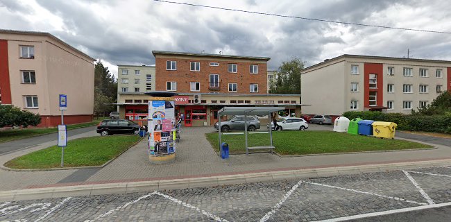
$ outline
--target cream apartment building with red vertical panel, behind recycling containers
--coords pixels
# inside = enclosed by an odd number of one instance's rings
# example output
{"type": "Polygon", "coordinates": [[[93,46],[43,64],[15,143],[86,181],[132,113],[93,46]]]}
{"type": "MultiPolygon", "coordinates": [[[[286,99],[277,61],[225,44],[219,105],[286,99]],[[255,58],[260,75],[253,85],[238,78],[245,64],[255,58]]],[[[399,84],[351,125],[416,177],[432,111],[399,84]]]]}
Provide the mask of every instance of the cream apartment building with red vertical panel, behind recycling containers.
{"type": "Polygon", "coordinates": [[[409,114],[451,89],[451,61],[343,55],[303,69],[306,114],[409,114]]]}

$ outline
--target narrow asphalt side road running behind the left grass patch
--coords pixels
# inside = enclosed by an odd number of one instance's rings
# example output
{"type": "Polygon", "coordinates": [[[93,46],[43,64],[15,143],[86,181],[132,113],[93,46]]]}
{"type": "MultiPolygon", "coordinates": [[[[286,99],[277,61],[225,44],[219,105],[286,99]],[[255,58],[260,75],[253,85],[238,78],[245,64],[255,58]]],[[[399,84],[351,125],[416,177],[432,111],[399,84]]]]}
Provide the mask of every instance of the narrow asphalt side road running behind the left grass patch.
{"type": "MultiPolygon", "coordinates": [[[[74,130],[67,130],[67,137],[71,137],[74,135],[78,135],[81,133],[87,133],[92,130],[95,130],[97,126],[89,126],[85,128],[78,128],[74,130]]],[[[58,133],[51,133],[47,135],[41,135],[37,137],[31,137],[27,139],[19,139],[11,142],[1,143],[0,144],[0,155],[4,155],[6,153],[11,153],[13,151],[20,150],[22,148],[30,148],[37,144],[42,144],[44,142],[51,142],[53,140],[58,139],[58,133]]]]}

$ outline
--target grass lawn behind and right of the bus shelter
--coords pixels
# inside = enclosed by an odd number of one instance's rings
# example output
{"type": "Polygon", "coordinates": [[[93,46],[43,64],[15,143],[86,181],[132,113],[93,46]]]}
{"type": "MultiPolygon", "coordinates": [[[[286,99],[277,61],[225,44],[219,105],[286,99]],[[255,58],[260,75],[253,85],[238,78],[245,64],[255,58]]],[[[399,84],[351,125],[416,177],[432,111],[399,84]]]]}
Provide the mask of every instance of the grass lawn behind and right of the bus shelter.
{"type": "MultiPolygon", "coordinates": [[[[208,141],[216,152],[218,133],[207,133],[208,141]]],[[[221,135],[221,141],[229,145],[230,153],[244,153],[244,135],[221,135]]],[[[268,146],[268,134],[248,135],[248,146],[268,146]]],[[[418,144],[398,139],[380,139],[348,133],[332,131],[282,131],[273,132],[275,152],[280,155],[304,155],[320,153],[348,153],[361,151],[389,151],[411,148],[431,148],[426,144],[418,144]]]]}

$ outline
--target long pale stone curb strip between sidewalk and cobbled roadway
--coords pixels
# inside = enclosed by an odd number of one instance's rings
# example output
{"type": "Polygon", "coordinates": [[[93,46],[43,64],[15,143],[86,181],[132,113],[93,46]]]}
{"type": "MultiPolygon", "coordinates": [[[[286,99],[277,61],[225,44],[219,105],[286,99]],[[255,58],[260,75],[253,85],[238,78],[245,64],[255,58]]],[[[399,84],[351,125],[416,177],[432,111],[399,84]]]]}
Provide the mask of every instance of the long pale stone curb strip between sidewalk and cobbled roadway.
{"type": "Polygon", "coordinates": [[[75,185],[67,187],[45,187],[0,191],[0,201],[33,200],[60,198],[67,196],[93,196],[101,194],[129,194],[134,192],[161,191],[168,189],[186,189],[196,187],[215,187],[222,185],[247,184],[251,182],[274,182],[279,180],[300,180],[305,178],[323,178],[358,173],[374,173],[413,169],[421,167],[439,167],[450,165],[451,159],[402,162],[389,164],[367,164],[350,167],[323,167],[316,169],[296,169],[288,171],[267,171],[260,173],[230,174],[225,176],[207,176],[173,180],[148,180],[139,182],[113,182],[93,185],[75,185]]]}

